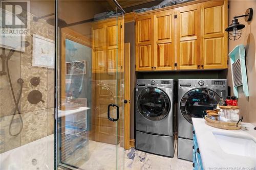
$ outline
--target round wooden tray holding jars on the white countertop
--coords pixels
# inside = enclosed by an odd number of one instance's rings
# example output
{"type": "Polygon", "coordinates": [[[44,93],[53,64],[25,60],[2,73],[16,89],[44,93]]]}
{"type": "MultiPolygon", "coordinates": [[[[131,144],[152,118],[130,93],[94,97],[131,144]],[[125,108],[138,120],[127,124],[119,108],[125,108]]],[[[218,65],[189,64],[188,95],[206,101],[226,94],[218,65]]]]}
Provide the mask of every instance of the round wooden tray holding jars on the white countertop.
{"type": "Polygon", "coordinates": [[[238,123],[230,123],[230,122],[220,122],[218,120],[212,120],[210,118],[207,117],[207,115],[204,116],[205,118],[205,124],[215,127],[215,128],[219,128],[219,129],[226,129],[226,130],[239,130],[241,129],[241,122],[238,123]]]}

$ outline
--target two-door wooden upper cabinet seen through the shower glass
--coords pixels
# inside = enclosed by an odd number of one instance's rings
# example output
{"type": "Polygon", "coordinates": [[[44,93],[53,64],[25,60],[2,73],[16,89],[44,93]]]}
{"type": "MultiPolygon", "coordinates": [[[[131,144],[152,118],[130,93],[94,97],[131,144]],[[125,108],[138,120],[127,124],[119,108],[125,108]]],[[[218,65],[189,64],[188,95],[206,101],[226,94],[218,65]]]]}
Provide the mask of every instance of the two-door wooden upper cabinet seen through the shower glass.
{"type": "Polygon", "coordinates": [[[123,32],[123,19],[94,23],[92,26],[93,72],[123,71],[123,32]]]}

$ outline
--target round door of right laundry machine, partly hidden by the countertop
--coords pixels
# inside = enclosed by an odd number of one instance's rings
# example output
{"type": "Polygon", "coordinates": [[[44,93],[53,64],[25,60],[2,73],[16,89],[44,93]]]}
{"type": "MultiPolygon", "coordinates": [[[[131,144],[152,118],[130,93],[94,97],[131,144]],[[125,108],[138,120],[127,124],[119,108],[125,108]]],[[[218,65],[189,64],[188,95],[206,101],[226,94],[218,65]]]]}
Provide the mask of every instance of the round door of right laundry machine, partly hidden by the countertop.
{"type": "Polygon", "coordinates": [[[192,124],[192,117],[203,118],[206,110],[213,110],[220,101],[215,91],[197,88],[188,91],[182,98],[180,110],[185,119],[192,124]]]}

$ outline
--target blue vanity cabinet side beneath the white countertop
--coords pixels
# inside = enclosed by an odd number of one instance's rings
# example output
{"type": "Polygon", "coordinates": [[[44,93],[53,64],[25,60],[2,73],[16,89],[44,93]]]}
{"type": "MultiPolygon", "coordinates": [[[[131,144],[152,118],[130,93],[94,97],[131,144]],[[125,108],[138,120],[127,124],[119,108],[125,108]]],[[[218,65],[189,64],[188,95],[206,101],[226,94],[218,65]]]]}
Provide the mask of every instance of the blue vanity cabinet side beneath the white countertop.
{"type": "Polygon", "coordinates": [[[201,155],[200,155],[200,150],[197,144],[197,136],[195,131],[193,130],[193,142],[194,142],[194,146],[193,146],[193,168],[194,170],[203,170],[203,163],[202,163],[202,159],[201,159],[201,155]]]}

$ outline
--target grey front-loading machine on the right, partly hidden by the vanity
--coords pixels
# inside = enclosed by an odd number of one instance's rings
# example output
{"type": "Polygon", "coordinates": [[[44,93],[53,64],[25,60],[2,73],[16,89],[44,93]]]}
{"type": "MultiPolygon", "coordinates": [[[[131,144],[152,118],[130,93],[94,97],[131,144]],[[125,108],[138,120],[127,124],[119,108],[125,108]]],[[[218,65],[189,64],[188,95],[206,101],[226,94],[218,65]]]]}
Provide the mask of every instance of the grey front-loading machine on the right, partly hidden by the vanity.
{"type": "Polygon", "coordinates": [[[180,79],[178,81],[178,158],[193,160],[192,117],[203,118],[214,109],[220,95],[226,99],[226,79],[180,79]]]}

